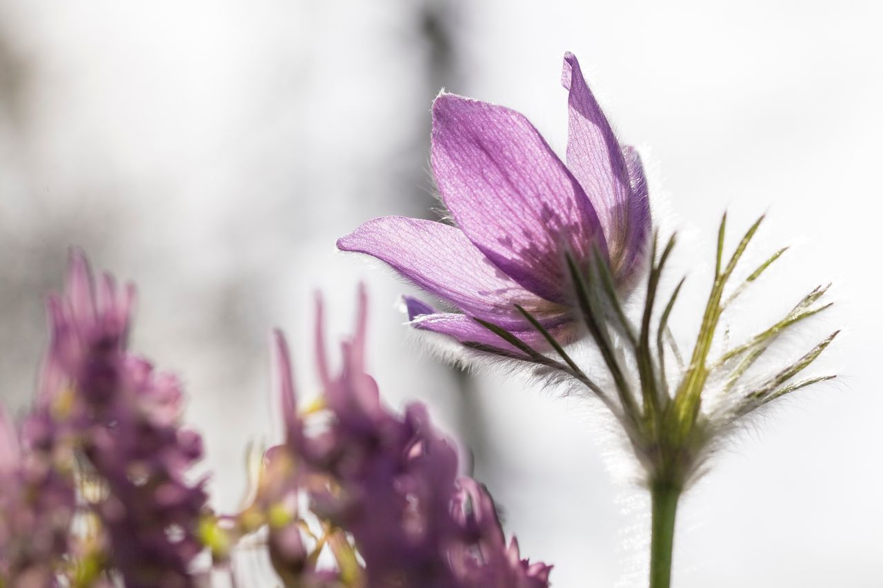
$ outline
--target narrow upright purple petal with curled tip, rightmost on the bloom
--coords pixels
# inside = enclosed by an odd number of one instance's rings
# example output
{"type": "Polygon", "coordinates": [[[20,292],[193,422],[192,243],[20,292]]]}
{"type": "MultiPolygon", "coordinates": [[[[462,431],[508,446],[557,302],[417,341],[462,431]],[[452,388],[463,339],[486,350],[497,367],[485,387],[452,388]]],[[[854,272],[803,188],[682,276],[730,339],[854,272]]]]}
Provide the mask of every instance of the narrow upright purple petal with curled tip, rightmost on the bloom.
{"type": "Polygon", "coordinates": [[[633,271],[650,227],[640,159],[630,147],[623,153],[572,53],[564,54],[562,85],[570,92],[567,166],[600,217],[611,269],[622,283],[633,271]]]}

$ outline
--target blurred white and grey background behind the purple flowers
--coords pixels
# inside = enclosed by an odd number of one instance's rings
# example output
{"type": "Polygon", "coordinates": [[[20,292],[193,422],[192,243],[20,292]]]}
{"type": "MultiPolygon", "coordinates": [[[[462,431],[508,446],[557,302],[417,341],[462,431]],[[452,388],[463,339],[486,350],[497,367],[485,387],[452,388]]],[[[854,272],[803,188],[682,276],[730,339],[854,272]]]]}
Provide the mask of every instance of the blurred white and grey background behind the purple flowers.
{"type": "Polygon", "coordinates": [[[139,284],[134,346],[184,378],[215,505],[234,509],[245,448],[279,431],[269,329],[289,333],[314,392],[313,292],[342,335],[363,280],[386,400],[432,404],[523,552],[562,588],[642,584],[646,503],[609,475],[616,442],[593,407],[443,366],[402,327],[408,286],[334,246],[374,216],[433,217],[441,87],[521,110],[562,152],[571,50],[644,155],[658,218],[686,236],[684,340],[725,209],[734,231],[769,213],[758,257],[797,244],[736,330],[828,279],[841,302],[821,320],[845,328],[821,366],[841,379],[717,457],[683,502],[675,584],[881,586],[881,16],[876,2],[4,0],[4,403],[30,401],[43,296],[79,245],[139,284]]]}

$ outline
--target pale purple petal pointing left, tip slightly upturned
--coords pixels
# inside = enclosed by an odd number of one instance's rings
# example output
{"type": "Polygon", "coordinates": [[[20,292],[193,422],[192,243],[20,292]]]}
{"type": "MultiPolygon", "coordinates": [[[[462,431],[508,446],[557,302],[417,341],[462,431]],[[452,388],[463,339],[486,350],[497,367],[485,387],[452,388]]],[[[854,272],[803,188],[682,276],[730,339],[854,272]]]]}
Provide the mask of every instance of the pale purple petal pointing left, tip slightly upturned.
{"type": "Polygon", "coordinates": [[[385,261],[420,288],[457,305],[464,313],[503,327],[524,322],[516,304],[538,313],[557,309],[557,305],[525,290],[494,266],[463,231],[442,222],[384,216],[341,237],[337,247],[385,261]]]}

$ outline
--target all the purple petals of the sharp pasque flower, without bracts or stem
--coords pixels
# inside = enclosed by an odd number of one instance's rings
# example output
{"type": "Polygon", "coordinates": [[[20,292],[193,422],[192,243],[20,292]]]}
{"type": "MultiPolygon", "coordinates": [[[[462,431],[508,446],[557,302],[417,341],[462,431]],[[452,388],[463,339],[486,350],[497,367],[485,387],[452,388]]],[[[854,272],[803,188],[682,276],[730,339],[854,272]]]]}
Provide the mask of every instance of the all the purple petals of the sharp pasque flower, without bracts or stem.
{"type": "Polygon", "coordinates": [[[432,165],[457,226],[389,216],[337,241],[343,251],[388,263],[459,311],[440,313],[406,298],[414,327],[500,345],[476,317],[543,347],[514,305],[559,340],[572,339],[577,313],[566,254],[585,263],[600,252],[615,283],[631,285],[651,225],[640,159],[620,146],[570,53],[562,83],[570,92],[567,165],[516,111],[440,94],[433,104],[432,165]]]}

